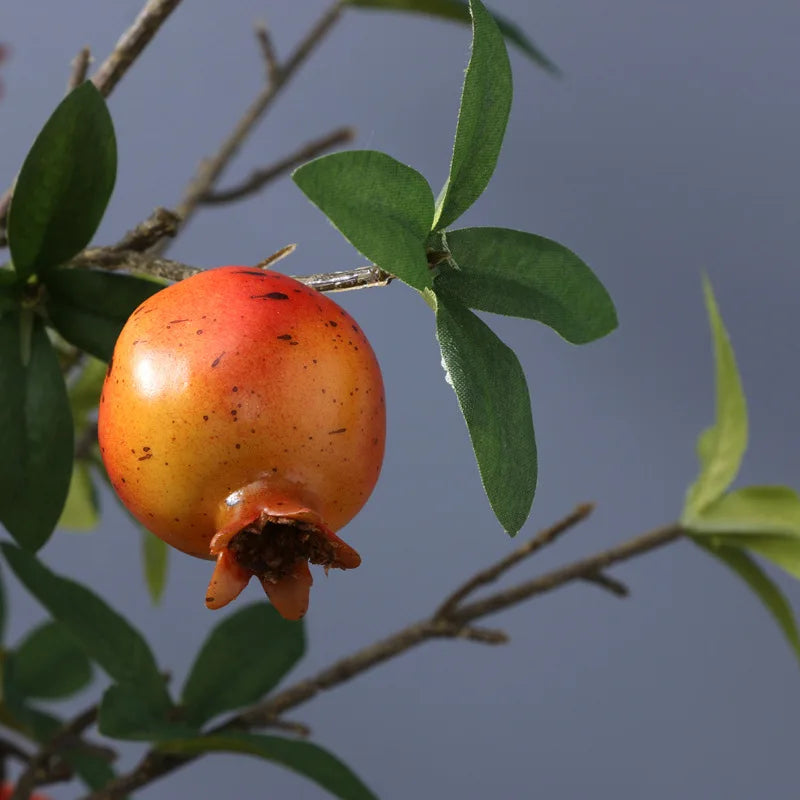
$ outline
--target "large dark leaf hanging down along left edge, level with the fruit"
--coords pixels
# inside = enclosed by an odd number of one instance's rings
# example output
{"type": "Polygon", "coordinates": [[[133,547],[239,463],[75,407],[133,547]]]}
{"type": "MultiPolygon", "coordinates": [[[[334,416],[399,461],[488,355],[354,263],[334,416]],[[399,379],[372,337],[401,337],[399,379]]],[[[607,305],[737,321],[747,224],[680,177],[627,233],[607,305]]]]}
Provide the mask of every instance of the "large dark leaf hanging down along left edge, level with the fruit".
{"type": "Polygon", "coordinates": [[[37,550],[64,507],[74,444],[58,356],[30,311],[0,317],[0,386],[0,522],[37,550]]]}

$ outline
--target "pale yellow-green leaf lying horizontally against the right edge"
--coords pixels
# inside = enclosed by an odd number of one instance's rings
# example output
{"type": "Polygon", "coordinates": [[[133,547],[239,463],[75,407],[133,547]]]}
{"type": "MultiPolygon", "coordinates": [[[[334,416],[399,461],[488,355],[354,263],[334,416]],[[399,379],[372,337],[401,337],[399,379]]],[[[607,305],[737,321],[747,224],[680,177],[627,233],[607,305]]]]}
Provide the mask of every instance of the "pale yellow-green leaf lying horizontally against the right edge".
{"type": "Polygon", "coordinates": [[[694,533],[777,533],[800,537],[800,497],[788,486],[748,486],[692,518],[694,533]]]}

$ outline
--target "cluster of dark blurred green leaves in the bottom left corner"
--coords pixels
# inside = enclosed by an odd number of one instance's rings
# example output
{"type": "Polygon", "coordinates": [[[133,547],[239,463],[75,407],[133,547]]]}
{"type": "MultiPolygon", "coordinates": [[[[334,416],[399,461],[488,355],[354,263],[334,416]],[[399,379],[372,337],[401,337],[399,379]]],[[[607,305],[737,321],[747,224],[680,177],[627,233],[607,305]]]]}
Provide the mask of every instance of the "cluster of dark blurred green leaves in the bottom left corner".
{"type": "MultiPolygon", "coordinates": [[[[297,664],[306,647],[302,623],[287,622],[266,603],[240,608],[211,631],[175,701],[149,645],[127,620],[31,553],[12,544],[0,547],[20,582],[53,617],[16,648],[3,650],[4,724],[47,741],[62,721],[36,703],[83,689],[92,677],[91,660],[112,681],[98,713],[105,736],[154,742],[178,755],[256,755],[305,775],[336,797],[374,798],[347,766],[316,744],[214,724],[226,712],[264,698],[297,664]],[[254,648],[253,641],[270,646],[254,648]]],[[[108,761],[86,743],[72,742],[62,755],[92,788],[114,777],[108,761]]]]}

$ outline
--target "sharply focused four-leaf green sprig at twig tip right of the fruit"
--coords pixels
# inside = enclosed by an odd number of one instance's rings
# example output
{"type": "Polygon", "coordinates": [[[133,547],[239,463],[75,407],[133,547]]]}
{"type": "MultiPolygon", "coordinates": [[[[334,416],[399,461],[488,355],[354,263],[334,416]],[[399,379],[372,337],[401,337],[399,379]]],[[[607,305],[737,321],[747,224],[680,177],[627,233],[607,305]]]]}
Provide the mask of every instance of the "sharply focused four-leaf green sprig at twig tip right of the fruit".
{"type": "MultiPolygon", "coordinates": [[[[466,4],[439,5],[455,16],[466,4]]],[[[293,177],[357,250],[416,289],[433,309],[442,364],[484,489],[513,536],[536,491],[530,396],[516,355],[473,310],[537,320],[574,344],[605,336],[617,317],[603,285],[563,245],[507,228],[450,227],[489,183],[511,110],[503,34],[480,0],[469,7],[472,55],[450,174],[438,201],[416,170],[370,150],[323,156],[293,177]]]]}

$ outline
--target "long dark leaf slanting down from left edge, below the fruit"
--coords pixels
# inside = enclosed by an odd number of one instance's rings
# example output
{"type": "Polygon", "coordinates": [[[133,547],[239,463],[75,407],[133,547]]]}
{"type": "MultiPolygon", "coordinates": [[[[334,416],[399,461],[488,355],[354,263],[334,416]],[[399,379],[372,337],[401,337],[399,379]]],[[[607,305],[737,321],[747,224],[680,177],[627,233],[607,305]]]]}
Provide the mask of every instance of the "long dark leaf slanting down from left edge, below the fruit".
{"type": "Polygon", "coordinates": [[[147,642],[98,595],[48,569],[35,556],[11,544],[0,545],[25,588],[69,630],[113,680],[138,687],[165,706],[169,696],[147,642]]]}

